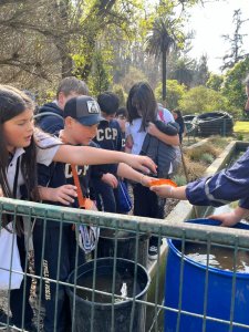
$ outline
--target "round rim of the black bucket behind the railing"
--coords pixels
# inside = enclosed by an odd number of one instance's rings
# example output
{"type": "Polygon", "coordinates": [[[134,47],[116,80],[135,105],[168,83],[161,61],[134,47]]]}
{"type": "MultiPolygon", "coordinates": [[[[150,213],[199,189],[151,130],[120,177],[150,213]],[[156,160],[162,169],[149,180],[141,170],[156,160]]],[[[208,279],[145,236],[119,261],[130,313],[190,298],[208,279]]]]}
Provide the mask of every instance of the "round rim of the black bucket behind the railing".
{"type": "MultiPolygon", "coordinates": [[[[114,261],[114,258],[113,258],[113,257],[102,257],[102,258],[97,258],[96,260],[97,260],[97,261],[100,261],[100,260],[113,260],[113,261],[114,261]]],[[[128,263],[135,264],[135,261],[129,260],[129,259],[125,259],[125,258],[116,258],[116,261],[117,261],[117,260],[122,260],[122,261],[126,261],[126,262],[128,262],[128,263]]],[[[90,263],[94,263],[94,259],[91,259],[91,260],[89,260],[87,262],[81,264],[77,269],[80,269],[82,266],[90,264],[90,263]]],[[[143,291],[139,292],[139,293],[135,297],[135,299],[138,299],[138,298],[143,297],[143,295],[147,292],[147,290],[148,290],[148,288],[149,288],[149,284],[151,284],[151,281],[152,281],[151,276],[148,274],[148,271],[145,269],[145,267],[143,267],[143,266],[139,264],[139,263],[137,263],[137,267],[141,268],[141,269],[143,270],[143,272],[147,276],[147,282],[146,282],[146,286],[144,287],[143,291]]],[[[74,274],[74,271],[75,271],[75,270],[73,270],[73,271],[70,273],[69,278],[66,279],[66,282],[70,283],[71,276],[74,274]]],[[[83,274],[84,274],[84,273],[77,274],[77,278],[80,278],[80,277],[83,276],[83,274]]],[[[69,286],[69,284],[66,286],[66,292],[69,292],[69,294],[70,294],[70,293],[73,294],[73,289],[74,289],[73,286],[69,286]]],[[[82,299],[82,298],[79,297],[76,293],[75,293],[75,299],[76,299],[77,301],[80,301],[80,302],[83,302],[83,303],[86,303],[86,304],[90,304],[90,305],[92,305],[92,303],[93,303],[94,310],[98,309],[100,307],[104,307],[104,308],[110,308],[110,309],[111,309],[112,305],[115,307],[114,309],[118,309],[120,307],[126,307],[126,305],[131,304],[131,302],[134,301],[134,298],[132,298],[131,300],[124,300],[124,301],[120,301],[120,302],[116,302],[116,303],[115,303],[115,302],[114,302],[114,303],[92,302],[92,301],[87,301],[87,300],[82,299]]]]}

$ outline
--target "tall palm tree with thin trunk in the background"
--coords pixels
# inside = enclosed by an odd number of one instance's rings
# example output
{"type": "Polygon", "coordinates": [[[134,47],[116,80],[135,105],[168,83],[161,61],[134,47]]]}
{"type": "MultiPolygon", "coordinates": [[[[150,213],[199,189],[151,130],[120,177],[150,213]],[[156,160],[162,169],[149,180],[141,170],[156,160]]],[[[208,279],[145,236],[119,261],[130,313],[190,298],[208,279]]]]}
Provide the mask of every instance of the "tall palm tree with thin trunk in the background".
{"type": "Polygon", "coordinates": [[[166,63],[169,51],[176,48],[176,38],[173,33],[176,20],[156,18],[152,31],[146,39],[146,52],[159,59],[162,56],[163,101],[166,100],[166,63]]]}

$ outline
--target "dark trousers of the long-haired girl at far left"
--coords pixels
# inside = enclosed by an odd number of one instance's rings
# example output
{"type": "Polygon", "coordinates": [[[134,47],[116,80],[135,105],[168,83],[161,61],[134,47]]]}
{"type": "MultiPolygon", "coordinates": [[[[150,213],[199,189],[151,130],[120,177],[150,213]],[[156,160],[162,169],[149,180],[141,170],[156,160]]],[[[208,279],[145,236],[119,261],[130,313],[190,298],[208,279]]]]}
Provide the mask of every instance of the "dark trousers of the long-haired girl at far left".
{"type": "MultiPolygon", "coordinates": [[[[24,235],[18,236],[17,239],[22,269],[23,271],[29,272],[29,262],[27,260],[24,235]]],[[[20,289],[14,289],[10,291],[10,309],[12,312],[12,322],[18,328],[29,326],[33,318],[33,310],[29,302],[31,281],[32,280],[30,277],[24,276],[20,289]]]]}

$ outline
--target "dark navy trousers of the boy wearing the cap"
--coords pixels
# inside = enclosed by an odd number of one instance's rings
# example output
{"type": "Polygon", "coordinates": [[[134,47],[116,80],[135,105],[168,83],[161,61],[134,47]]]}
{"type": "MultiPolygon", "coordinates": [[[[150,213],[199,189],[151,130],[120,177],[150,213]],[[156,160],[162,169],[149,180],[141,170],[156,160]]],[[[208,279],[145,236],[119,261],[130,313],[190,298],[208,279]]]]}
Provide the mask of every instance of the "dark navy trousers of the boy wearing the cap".
{"type": "MultiPolygon", "coordinates": [[[[55,280],[55,282],[42,280],[42,303],[45,308],[44,331],[69,332],[71,331],[70,301],[65,292],[65,282],[70,272],[75,268],[76,241],[72,225],[49,226],[37,222],[33,230],[34,257],[37,273],[55,280]],[[45,232],[45,234],[44,234],[45,232]],[[44,249],[42,240],[44,238],[44,249]],[[59,281],[59,282],[56,282],[59,281]],[[55,330],[54,330],[55,329],[55,330]]],[[[85,262],[85,256],[79,250],[77,264],[85,262]]]]}

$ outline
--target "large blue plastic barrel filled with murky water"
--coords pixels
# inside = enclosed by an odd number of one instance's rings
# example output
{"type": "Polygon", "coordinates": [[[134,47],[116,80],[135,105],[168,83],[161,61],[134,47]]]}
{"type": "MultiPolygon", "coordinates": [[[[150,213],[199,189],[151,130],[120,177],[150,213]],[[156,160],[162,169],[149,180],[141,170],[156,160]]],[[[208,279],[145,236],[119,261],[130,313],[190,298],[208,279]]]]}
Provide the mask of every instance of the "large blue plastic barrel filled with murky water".
{"type": "MultiPolygon", "coordinates": [[[[219,226],[219,221],[211,219],[193,219],[186,222],[219,226]]],[[[246,224],[238,224],[236,228],[249,230],[246,224]]],[[[181,252],[179,240],[168,240],[168,257],[165,273],[165,305],[176,309],[177,312],[165,310],[165,332],[243,332],[242,326],[232,326],[225,322],[190,317],[179,312],[180,267],[181,252]],[[177,249],[179,248],[179,250],[177,249]],[[206,328],[204,330],[204,324],[206,328]]],[[[204,314],[205,282],[207,267],[188,257],[184,257],[184,271],[181,284],[181,310],[204,314]]],[[[208,291],[206,315],[215,319],[230,321],[232,300],[231,271],[208,267],[208,291]]],[[[235,308],[232,322],[249,326],[249,273],[236,273],[235,308]]]]}

